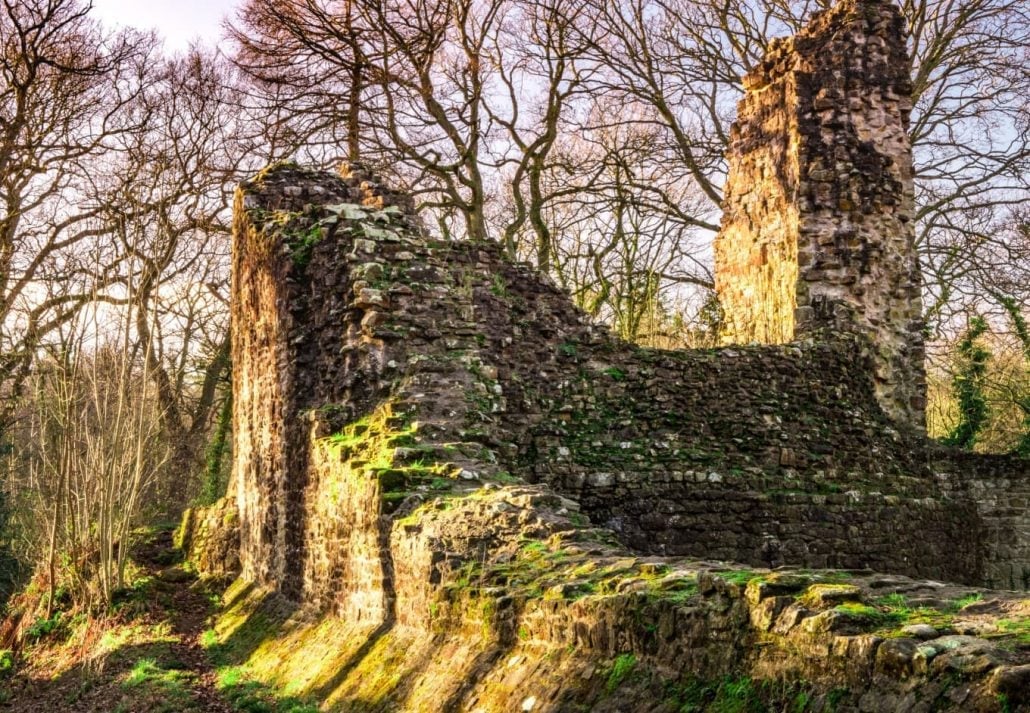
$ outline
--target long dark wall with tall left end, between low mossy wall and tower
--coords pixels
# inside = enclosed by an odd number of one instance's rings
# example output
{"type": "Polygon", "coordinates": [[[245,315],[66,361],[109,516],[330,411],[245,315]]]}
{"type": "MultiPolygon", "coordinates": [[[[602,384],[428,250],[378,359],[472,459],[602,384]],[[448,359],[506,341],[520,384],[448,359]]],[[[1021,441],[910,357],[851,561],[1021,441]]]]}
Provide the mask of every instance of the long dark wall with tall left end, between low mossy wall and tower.
{"type": "Polygon", "coordinates": [[[242,189],[237,260],[277,266],[293,325],[262,341],[269,308],[245,316],[245,296],[236,308],[251,350],[236,372],[236,469],[250,479],[239,491],[253,581],[388,612],[391,516],[511,478],[577,499],[641,552],[965,582],[990,557],[1026,562],[984,540],[970,494],[941,487],[922,442],[882,411],[863,337],[642,349],[497,245],[436,241],[403,210],[359,208],[369,196],[347,191],[366,182],[282,167],[242,189]],[[287,384],[293,415],[280,416],[287,384]],[[276,427],[288,447],[252,435],[276,418],[293,421],[276,427]]]}

